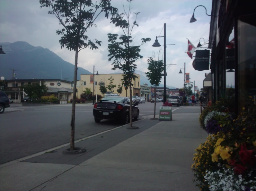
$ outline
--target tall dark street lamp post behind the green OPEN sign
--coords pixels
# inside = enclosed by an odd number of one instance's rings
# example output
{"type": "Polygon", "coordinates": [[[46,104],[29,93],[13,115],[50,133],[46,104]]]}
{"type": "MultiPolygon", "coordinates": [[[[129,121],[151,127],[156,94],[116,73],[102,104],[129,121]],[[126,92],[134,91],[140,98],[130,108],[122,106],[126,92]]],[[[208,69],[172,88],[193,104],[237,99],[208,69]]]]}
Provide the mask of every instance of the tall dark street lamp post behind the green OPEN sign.
{"type": "MultiPolygon", "coordinates": [[[[166,76],[167,76],[167,73],[166,73],[166,46],[167,45],[175,45],[175,44],[166,44],[166,23],[164,24],[164,36],[161,36],[161,37],[164,37],[164,103],[166,102],[166,76]]],[[[157,38],[160,38],[160,37],[156,37],[156,40],[154,42],[154,44],[152,45],[152,47],[160,47],[161,44],[158,42],[157,38]]]]}

